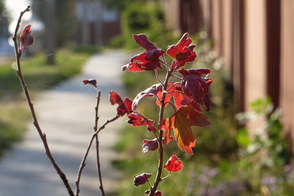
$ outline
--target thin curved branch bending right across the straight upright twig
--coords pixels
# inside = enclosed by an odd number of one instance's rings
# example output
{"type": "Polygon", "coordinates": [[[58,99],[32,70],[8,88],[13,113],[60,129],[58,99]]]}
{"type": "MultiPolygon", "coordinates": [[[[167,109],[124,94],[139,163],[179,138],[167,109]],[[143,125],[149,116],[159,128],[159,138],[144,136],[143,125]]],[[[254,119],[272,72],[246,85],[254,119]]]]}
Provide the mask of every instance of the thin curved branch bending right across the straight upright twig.
{"type": "Polygon", "coordinates": [[[93,133],[92,138],[91,138],[91,140],[90,140],[90,142],[89,142],[89,144],[88,144],[88,148],[87,148],[87,150],[86,150],[86,152],[85,152],[85,154],[84,154],[84,157],[83,157],[83,159],[82,159],[82,162],[81,162],[80,168],[78,169],[78,175],[77,175],[77,178],[76,178],[76,193],[75,193],[76,196],[78,196],[78,193],[80,192],[79,184],[80,184],[80,179],[81,179],[82,170],[83,170],[83,168],[84,168],[85,165],[86,165],[86,163],[85,163],[85,162],[86,162],[86,158],[87,158],[87,156],[88,156],[88,153],[89,153],[89,150],[90,150],[90,148],[91,148],[91,145],[92,145],[92,143],[93,143],[94,138],[96,138],[96,135],[97,135],[102,129],[104,129],[105,126],[106,126],[108,123],[111,123],[111,122],[115,121],[115,120],[118,119],[118,118],[119,118],[119,116],[115,116],[115,117],[111,118],[110,120],[106,120],[106,122],[105,122],[103,125],[101,125],[101,127],[100,127],[98,130],[96,130],[95,133],[93,133]]]}

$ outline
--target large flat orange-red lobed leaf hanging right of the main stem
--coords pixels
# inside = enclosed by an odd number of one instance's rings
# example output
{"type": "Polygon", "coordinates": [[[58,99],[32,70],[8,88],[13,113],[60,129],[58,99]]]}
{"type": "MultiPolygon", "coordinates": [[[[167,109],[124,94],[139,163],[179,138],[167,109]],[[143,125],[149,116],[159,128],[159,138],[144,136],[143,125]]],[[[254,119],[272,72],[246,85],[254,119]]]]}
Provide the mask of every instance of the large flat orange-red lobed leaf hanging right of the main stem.
{"type": "Polygon", "coordinates": [[[180,108],[169,118],[163,119],[158,125],[158,130],[164,129],[164,144],[169,142],[171,129],[173,129],[176,141],[181,150],[189,155],[193,155],[192,148],[195,146],[195,137],[191,126],[206,127],[210,125],[208,117],[202,113],[195,111],[192,107],[180,108]]]}

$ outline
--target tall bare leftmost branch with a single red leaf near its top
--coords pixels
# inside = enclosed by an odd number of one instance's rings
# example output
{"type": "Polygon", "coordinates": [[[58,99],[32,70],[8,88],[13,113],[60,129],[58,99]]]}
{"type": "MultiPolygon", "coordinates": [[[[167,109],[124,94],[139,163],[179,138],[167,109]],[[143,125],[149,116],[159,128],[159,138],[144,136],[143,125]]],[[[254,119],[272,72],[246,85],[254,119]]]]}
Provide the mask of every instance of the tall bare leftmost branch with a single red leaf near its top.
{"type": "Polygon", "coordinates": [[[21,14],[19,16],[19,19],[18,19],[18,22],[17,22],[17,25],[16,25],[16,28],[15,28],[14,36],[12,37],[12,40],[14,41],[14,49],[15,49],[16,62],[17,62],[17,70],[16,70],[16,73],[17,73],[17,76],[19,77],[19,81],[21,82],[21,86],[22,86],[22,88],[24,90],[24,94],[26,96],[26,100],[28,101],[28,104],[29,104],[29,107],[30,107],[30,110],[31,110],[31,115],[32,115],[33,120],[34,120],[34,125],[35,125],[35,127],[36,127],[36,129],[37,129],[37,131],[38,131],[38,133],[40,135],[40,138],[41,138],[41,140],[42,140],[42,142],[44,144],[45,153],[46,153],[47,157],[49,158],[51,164],[55,168],[56,172],[60,176],[61,180],[63,181],[63,183],[64,183],[64,185],[65,185],[65,187],[66,187],[69,195],[70,196],[74,196],[74,193],[71,190],[71,187],[70,187],[70,185],[68,183],[68,180],[66,179],[65,174],[61,171],[61,169],[56,164],[54,158],[51,155],[51,152],[50,152],[49,147],[48,147],[48,144],[47,144],[46,135],[45,135],[45,133],[42,132],[42,130],[41,130],[40,126],[39,126],[38,120],[36,118],[34,106],[33,106],[33,103],[31,102],[31,98],[29,96],[29,91],[28,91],[27,85],[26,85],[26,83],[24,81],[24,77],[22,76],[22,73],[21,73],[20,57],[21,57],[22,52],[19,51],[19,49],[17,47],[16,36],[17,36],[17,32],[19,30],[21,18],[24,15],[25,12],[31,10],[30,8],[31,8],[31,6],[28,6],[24,11],[21,12],[21,14]]]}

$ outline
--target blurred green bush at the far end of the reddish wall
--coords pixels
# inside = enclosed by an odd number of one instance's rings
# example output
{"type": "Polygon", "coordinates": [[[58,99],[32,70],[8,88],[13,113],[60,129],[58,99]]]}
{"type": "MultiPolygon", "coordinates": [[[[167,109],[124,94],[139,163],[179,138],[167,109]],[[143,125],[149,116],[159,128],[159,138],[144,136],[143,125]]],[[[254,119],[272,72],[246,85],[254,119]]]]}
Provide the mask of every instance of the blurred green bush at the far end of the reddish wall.
{"type": "Polygon", "coordinates": [[[112,46],[138,48],[132,34],[144,33],[156,46],[165,48],[167,42],[164,40],[173,37],[171,31],[165,27],[164,14],[157,1],[135,1],[127,4],[121,13],[121,31],[121,35],[111,41],[112,46]]]}

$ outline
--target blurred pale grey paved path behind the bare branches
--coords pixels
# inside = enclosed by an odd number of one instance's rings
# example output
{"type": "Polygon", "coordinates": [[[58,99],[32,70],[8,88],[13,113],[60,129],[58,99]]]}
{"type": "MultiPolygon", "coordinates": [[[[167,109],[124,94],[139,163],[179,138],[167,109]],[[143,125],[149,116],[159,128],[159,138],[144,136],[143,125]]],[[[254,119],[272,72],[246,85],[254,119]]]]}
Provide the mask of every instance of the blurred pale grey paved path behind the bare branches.
{"type": "MultiPolygon", "coordinates": [[[[99,125],[116,114],[108,101],[108,92],[119,92],[124,98],[120,79],[126,55],[106,52],[91,57],[83,73],[61,83],[58,88],[41,93],[34,107],[39,124],[46,133],[49,148],[66,174],[73,191],[76,174],[93,133],[96,91],[83,85],[84,79],[96,78],[101,89],[99,125]]],[[[113,190],[119,174],[111,167],[116,154],[111,149],[126,116],[109,124],[99,133],[101,170],[106,191],[113,190]]],[[[96,173],[96,154],[92,146],[81,177],[80,196],[101,195],[96,173]]],[[[30,122],[24,141],[14,145],[0,160],[0,196],[63,196],[68,195],[59,175],[44,154],[43,143],[30,122]]]]}

